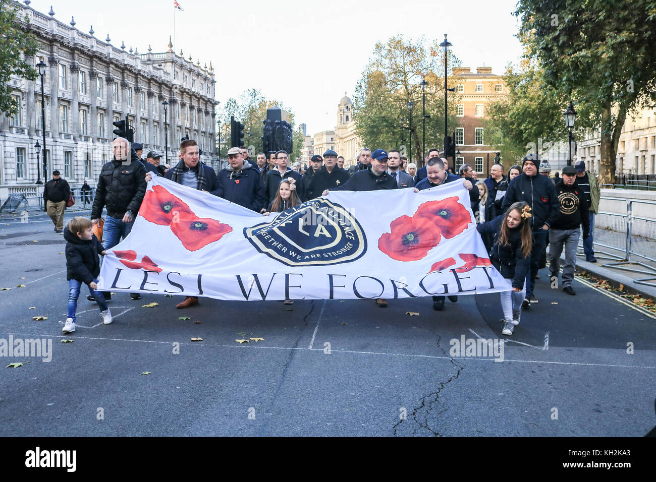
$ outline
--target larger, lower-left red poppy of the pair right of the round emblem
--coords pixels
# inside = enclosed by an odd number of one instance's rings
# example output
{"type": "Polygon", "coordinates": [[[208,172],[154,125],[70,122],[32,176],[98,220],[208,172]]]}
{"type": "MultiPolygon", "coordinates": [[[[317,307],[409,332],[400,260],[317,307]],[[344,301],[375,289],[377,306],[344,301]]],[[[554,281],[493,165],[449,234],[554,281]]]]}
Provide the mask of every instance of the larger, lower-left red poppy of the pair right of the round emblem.
{"type": "Polygon", "coordinates": [[[391,233],[380,236],[378,247],[397,261],[416,261],[441,240],[440,228],[428,218],[401,216],[390,224],[391,233]]]}

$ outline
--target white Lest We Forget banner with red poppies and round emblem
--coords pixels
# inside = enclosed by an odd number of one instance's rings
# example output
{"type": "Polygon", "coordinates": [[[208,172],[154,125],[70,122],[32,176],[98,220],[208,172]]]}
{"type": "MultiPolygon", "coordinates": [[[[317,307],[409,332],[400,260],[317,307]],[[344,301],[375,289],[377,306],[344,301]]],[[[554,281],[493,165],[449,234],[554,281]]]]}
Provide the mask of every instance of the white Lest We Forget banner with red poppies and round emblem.
{"type": "Polygon", "coordinates": [[[220,300],[407,298],[508,291],[451,182],[331,191],[262,216],[158,177],[130,235],[104,257],[100,289],[220,300]]]}

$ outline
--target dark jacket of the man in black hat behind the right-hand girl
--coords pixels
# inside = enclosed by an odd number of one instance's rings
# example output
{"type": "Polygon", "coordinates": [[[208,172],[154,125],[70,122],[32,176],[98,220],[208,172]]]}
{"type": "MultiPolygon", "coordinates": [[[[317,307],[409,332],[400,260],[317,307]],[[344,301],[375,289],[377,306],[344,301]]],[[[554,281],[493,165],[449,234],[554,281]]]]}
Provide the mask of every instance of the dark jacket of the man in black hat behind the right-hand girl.
{"type": "Polygon", "coordinates": [[[541,231],[544,224],[551,226],[558,216],[558,195],[550,178],[540,173],[527,176],[522,172],[508,184],[504,196],[502,212],[518,201],[524,201],[531,207],[531,228],[533,232],[541,231]]]}

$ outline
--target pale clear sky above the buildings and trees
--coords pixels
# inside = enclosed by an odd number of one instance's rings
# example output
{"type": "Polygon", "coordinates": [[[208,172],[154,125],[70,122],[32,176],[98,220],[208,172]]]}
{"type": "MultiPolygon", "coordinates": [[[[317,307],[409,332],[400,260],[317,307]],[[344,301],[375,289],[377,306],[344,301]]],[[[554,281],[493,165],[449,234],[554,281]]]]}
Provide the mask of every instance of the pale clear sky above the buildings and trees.
{"type": "MultiPolygon", "coordinates": [[[[308,134],[334,129],[344,91],[352,97],[377,41],[403,33],[443,39],[463,66],[502,73],[522,53],[514,34],[516,0],[240,0],[220,4],[178,0],[174,50],[192,54],[216,69],[216,100],[223,102],[256,87],[268,98],[285,102],[308,134]],[[279,53],[276,53],[279,52],[279,53]],[[245,68],[240,67],[245,64],[245,68]]],[[[124,2],[129,12],[109,14],[117,2],[34,0],[30,7],[89,31],[98,39],[109,33],[112,44],[125,42],[140,53],[152,45],[165,52],[173,37],[173,0],[124,2]]]]}

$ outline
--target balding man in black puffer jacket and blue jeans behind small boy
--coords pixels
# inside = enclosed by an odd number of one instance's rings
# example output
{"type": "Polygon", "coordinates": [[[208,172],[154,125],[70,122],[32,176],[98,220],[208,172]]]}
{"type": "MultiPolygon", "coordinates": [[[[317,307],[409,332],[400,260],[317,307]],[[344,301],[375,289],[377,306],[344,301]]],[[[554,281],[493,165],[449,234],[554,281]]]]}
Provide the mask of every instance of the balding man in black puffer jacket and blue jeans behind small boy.
{"type": "MultiPolygon", "coordinates": [[[[139,212],[141,201],[146,194],[146,169],[136,157],[127,139],[119,137],[113,143],[114,158],[100,170],[96,199],[91,209],[91,222],[98,223],[102,209],[107,207],[107,217],[102,227],[102,245],[106,250],[112,249],[127,237],[134,224],[134,216],[139,212]]],[[[105,299],[110,300],[110,292],[103,292],[105,299]]],[[[130,293],[133,300],[141,295],[130,293]]],[[[92,296],[87,300],[94,301],[92,296]]]]}

